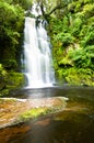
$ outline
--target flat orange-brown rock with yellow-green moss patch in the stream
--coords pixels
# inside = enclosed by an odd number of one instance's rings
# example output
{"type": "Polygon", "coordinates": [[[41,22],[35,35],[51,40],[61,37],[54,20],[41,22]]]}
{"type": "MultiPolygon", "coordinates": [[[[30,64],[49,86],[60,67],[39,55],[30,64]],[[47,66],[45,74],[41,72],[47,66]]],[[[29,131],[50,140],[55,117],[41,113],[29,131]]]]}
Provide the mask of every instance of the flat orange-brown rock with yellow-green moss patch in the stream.
{"type": "Polygon", "coordinates": [[[68,98],[0,98],[0,129],[63,110],[68,98]]]}

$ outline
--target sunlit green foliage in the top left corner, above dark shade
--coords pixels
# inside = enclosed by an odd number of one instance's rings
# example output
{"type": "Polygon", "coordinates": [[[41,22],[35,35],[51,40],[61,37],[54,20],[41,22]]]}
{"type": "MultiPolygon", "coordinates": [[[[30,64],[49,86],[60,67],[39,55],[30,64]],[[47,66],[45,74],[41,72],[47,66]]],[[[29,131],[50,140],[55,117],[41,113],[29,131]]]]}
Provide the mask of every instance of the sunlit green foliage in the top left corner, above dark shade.
{"type": "Polygon", "coordinates": [[[17,43],[17,38],[20,37],[19,31],[24,19],[22,8],[0,2],[0,31],[4,32],[1,37],[4,38],[5,35],[9,40],[16,41],[15,43],[17,43]]]}

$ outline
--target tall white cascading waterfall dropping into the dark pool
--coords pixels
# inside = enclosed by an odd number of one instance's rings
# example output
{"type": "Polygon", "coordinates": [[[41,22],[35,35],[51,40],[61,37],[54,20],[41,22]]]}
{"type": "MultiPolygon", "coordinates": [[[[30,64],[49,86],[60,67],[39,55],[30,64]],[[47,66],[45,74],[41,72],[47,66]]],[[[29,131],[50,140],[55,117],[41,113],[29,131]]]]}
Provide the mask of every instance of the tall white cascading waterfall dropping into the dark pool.
{"type": "Polygon", "coordinates": [[[36,21],[33,18],[25,19],[24,64],[27,87],[52,86],[55,72],[49,37],[42,22],[36,28],[36,21]]]}

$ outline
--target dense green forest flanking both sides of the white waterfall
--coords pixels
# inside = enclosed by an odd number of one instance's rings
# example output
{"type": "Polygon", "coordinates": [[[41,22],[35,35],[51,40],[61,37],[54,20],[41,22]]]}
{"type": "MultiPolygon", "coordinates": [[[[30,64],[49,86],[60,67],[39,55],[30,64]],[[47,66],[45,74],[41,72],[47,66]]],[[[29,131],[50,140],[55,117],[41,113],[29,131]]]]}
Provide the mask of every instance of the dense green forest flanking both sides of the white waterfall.
{"type": "Polygon", "coordinates": [[[56,77],[70,85],[94,86],[93,0],[0,0],[0,96],[24,84],[23,30],[33,2],[42,9],[38,19],[48,23],[56,77]]]}

